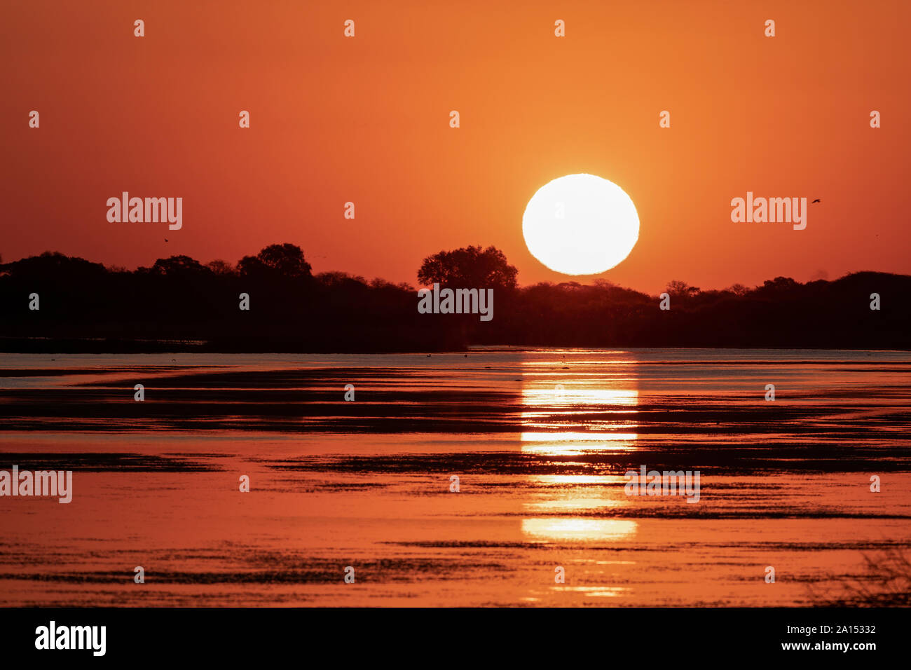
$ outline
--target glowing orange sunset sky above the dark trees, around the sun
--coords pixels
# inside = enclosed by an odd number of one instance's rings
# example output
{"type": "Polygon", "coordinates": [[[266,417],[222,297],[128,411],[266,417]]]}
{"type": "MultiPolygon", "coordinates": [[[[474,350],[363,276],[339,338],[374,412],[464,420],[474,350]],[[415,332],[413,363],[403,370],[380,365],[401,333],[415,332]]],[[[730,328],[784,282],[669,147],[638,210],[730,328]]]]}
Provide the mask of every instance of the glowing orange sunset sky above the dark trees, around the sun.
{"type": "Polygon", "coordinates": [[[597,275],[616,283],[911,273],[909,25],[901,0],[5,3],[0,254],[135,267],[293,242],[315,272],[415,284],[426,255],[493,244],[520,283],[571,280],[527,252],[522,212],[589,172],[640,215],[597,275]],[[107,222],[121,191],[183,197],[183,229],[107,222]],[[822,202],[804,231],[732,223],[746,191],[822,202]]]}

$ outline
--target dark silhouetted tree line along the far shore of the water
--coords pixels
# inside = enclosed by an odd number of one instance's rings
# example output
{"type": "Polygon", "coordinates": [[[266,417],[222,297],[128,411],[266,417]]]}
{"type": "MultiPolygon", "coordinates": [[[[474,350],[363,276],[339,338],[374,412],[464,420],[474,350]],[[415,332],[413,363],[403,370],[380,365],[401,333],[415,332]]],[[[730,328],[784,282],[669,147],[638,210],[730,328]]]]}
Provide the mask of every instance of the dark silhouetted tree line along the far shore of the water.
{"type": "Polygon", "coordinates": [[[808,283],[776,277],[752,288],[711,291],[673,281],[665,290],[670,309],[660,309],[660,296],[602,279],[520,286],[517,269],[494,247],[435,253],[416,278],[422,287],[493,288],[494,319],[418,314],[414,286],[314,274],[302,249],[289,243],[271,244],[236,264],[178,255],[133,271],[46,252],[0,263],[0,350],[911,348],[908,275],[862,272],[808,283]],[[241,309],[241,294],[249,309],[241,309]]]}

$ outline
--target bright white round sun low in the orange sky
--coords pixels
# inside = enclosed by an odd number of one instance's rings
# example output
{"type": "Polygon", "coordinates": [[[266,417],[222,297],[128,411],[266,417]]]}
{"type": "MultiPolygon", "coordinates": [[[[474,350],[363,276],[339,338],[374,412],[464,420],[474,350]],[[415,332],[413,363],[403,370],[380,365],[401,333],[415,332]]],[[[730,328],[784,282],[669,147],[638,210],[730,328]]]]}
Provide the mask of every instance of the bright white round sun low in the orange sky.
{"type": "Polygon", "coordinates": [[[569,174],[531,197],[522,234],[531,255],[551,270],[598,274],[630,255],[639,240],[639,214],[612,181],[569,174]]]}

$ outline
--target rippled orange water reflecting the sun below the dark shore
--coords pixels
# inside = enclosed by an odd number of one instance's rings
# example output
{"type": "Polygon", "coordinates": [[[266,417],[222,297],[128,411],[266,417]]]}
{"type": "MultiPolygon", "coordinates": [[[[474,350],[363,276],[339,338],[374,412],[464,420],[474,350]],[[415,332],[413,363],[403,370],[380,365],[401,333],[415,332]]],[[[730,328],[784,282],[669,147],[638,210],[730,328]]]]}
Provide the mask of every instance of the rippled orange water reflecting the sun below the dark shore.
{"type": "Polygon", "coordinates": [[[911,546],[906,352],[2,356],[0,469],[74,499],[0,498],[0,604],[806,605],[911,546]]]}

